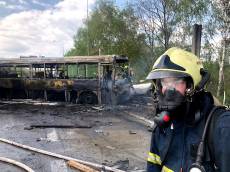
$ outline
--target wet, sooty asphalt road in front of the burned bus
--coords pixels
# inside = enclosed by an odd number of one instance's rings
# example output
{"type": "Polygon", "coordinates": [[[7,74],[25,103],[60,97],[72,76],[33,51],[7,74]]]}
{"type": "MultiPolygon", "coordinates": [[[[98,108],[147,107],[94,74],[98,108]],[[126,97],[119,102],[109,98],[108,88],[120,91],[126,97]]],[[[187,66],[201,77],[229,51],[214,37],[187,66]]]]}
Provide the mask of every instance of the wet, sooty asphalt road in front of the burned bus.
{"type": "MultiPolygon", "coordinates": [[[[1,104],[0,137],[85,161],[119,165],[124,171],[144,170],[151,133],[123,110],[140,116],[149,112],[138,106],[120,107],[1,104]],[[88,128],[31,128],[31,125],[88,128]]],[[[36,172],[77,171],[69,168],[64,160],[2,142],[0,156],[22,162],[36,172]]],[[[2,162],[0,167],[1,172],[23,171],[2,162]]]]}

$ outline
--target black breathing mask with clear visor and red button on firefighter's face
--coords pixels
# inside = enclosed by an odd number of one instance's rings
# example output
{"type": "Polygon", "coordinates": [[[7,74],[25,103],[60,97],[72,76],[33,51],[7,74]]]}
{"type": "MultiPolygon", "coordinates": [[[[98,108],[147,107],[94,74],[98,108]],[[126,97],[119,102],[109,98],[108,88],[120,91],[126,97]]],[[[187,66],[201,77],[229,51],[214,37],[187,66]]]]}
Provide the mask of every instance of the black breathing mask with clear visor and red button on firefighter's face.
{"type": "Polygon", "coordinates": [[[167,127],[186,102],[186,82],[183,78],[163,78],[156,80],[156,86],[158,113],[154,122],[160,127],[167,127]]]}

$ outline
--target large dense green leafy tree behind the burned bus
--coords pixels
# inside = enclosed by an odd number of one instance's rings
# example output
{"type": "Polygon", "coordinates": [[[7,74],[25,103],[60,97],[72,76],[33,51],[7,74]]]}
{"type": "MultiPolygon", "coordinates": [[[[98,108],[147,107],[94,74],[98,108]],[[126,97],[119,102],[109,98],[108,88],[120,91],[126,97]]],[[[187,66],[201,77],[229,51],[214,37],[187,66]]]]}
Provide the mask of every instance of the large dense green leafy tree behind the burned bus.
{"type": "Polygon", "coordinates": [[[124,54],[132,60],[141,56],[144,39],[131,7],[119,10],[112,1],[100,0],[66,55],[87,55],[89,45],[90,55],[124,54]]]}

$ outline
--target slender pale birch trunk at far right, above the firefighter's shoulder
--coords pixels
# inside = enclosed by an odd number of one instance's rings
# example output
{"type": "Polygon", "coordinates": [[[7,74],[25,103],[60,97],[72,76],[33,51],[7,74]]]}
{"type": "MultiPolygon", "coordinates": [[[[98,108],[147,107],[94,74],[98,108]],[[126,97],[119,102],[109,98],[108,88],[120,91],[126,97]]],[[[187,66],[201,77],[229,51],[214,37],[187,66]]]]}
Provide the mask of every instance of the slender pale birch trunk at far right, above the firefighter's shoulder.
{"type": "Polygon", "coordinates": [[[224,78],[224,59],[226,55],[226,41],[225,39],[223,40],[223,49],[222,49],[222,56],[220,57],[219,61],[219,81],[218,81],[218,87],[217,87],[217,97],[220,96],[220,89],[221,86],[223,85],[223,78],[224,78]]]}

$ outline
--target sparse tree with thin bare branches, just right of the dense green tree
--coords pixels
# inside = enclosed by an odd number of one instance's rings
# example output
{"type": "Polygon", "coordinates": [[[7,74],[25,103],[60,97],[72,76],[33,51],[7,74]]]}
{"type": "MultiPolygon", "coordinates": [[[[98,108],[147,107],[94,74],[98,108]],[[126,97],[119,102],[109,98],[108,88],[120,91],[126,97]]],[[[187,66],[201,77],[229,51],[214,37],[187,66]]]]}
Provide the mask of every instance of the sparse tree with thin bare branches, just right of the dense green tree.
{"type": "Polygon", "coordinates": [[[174,10],[170,5],[162,0],[137,0],[135,4],[140,27],[147,35],[146,44],[152,54],[156,43],[168,49],[172,33],[172,27],[169,25],[175,22],[174,10]]]}

